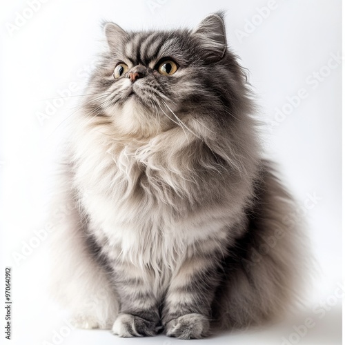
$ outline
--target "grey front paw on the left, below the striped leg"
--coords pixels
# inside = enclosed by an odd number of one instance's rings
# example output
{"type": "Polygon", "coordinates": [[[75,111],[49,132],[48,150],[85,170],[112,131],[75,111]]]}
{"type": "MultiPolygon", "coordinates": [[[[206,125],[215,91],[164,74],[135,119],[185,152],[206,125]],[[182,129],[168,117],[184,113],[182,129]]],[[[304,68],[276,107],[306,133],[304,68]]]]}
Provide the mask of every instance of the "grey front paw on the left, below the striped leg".
{"type": "Polygon", "coordinates": [[[144,337],[145,335],[157,335],[158,322],[148,321],[139,316],[119,314],[112,326],[112,333],[119,337],[144,337]]]}

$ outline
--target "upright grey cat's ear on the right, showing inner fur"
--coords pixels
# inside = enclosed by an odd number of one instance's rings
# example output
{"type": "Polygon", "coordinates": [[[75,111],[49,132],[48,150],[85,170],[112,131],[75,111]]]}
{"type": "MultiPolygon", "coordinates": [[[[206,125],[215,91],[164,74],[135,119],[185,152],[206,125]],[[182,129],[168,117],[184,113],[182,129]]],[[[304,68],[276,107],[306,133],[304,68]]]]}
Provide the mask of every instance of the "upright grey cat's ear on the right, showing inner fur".
{"type": "Polygon", "coordinates": [[[206,58],[219,61],[226,52],[226,31],[223,14],[215,13],[206,17],[193,31],[201,39],[206,58]]]}

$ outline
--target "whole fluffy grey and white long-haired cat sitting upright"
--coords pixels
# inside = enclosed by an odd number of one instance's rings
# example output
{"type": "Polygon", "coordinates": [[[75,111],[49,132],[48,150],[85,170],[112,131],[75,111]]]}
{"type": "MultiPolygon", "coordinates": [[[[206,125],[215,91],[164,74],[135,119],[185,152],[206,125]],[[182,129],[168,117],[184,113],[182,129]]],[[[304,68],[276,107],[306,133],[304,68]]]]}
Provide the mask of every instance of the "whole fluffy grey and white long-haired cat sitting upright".
{"type": "Polygon", "coordinates": [[[52,248],[57,295],[78,326],[120,337],[281,315],[304,242],[222,14],[195,30],[104,30],[58,201],[71,212],[52,248]]]}

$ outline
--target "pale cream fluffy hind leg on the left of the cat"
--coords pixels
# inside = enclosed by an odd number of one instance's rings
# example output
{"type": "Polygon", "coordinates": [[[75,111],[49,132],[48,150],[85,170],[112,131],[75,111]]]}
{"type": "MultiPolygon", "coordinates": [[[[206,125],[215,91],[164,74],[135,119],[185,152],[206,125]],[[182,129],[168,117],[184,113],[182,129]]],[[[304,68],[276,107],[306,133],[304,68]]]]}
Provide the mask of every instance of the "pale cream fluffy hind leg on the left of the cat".
{"type": "Polygon", "coordinates": [[[86,242],[68,181],[61,184],[48,219],[52,224],[50,293],[76,327],[111,328],[118,308],[115,289],[86,242]]]}

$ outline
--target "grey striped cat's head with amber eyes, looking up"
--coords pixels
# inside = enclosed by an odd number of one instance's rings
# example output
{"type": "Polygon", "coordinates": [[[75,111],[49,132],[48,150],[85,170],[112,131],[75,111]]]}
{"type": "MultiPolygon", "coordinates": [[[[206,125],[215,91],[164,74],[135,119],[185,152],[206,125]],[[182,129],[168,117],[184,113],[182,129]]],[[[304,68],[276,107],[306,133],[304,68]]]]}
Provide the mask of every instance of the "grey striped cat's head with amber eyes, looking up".
{"type": "Polygon", "coordinates": [[[104,31],[108,52],[90,79],[92,116],[110,117],[129,135],[152,136],[175,126],[215,129],[247,110],[222,14],[195,30],[126,32],[106,23],[104,31]]]}

